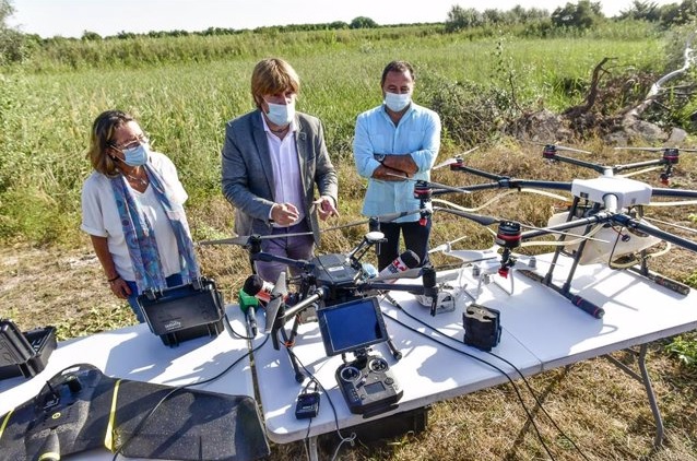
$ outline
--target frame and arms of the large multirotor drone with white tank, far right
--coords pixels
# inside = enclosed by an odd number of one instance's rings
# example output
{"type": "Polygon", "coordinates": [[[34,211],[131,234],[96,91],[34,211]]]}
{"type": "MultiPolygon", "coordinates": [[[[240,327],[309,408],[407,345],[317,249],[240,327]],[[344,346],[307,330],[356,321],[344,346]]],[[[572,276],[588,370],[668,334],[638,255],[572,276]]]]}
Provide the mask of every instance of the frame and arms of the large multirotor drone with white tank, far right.
{"type": "MultiPolygon", "coordinates": [[[[692,152],[692,151],[690,151],[692,152]]],[[[668,179],[672,176],[672,168],[678,161],[678,150],[674,147],[664,149],[663,156],[659,159],[647,161],[647,162],[637,162],[626,165],[615,165],[615,166],[605,166],[596,163],[584,162],[574,157],[567,157],[557,154],[557,149],[555,145],[547,144],[543,150],[543,157],[548,161],[559,161],[569,164],[574,164],[577,166],[586,167],[593,169],[598,173],[601,173],[605,177],[612,177],[615,173],[631,170],[636,168],[647,167],[647,166],[665,166],[665,169],[660,176],[660,179],[663,184],[668,182],[668,179]]],[[[497,175],[489,172],[484,172],[481,169],[476,169],[470,166],[464,165],[461,157],[456,157],[454,162],[450,164],[450,169],[454,172],[464,172],[470,173],[475,176],[484,177],[486,179],[494,180],[494,182],[486,182],[473,186],[463,186],[458,188],[447,187],[444,188],[442,185],[429,184],[428,181],[417,181],[414,187],[414,197],[425,198],[429,200],[433,196],[440,196],[445,193],[451,192],[474,192],[487,189],[522,189],[522,188],[531,188],[531,189],[553,189],[553,190],[563,190],[563,191],[571,191],[572,182],[563,182],[563,181],[542,181],[542,180],[529,180],[529,179],[517,179],[510,178],[508,176],[497,175]]],[[[670,198],[697,198],[697,191],[685,190],[685,189],[668,189],[668,188],[652,188],[651,197],[670,197],[670,198]]],[[[697,252],[697,243],[694,240],[680,237],[677,235],[671,234],[665,230],[661,230],[658,227],[649,226],[645,224],[640,217],[643,215],[643,206],[635,205],[633,208],[633,213],[621,212],[616,210],[616,197],[612,194],[612,192],[607,193],[606,197],[603,197],[603,203],[594,203],[590,202],[587,199],[580,199],[578,197],[574,198],[574,201],[569,208],[569,212],[567,215],[567,222],[547,226],[545,228],[532,229],[532,230],[521,230],[521,225],[513,221],[499,220],[491,216],[484,216],[474,213],[468,213],[459,210],[446,209],[434,206],[434,211],[444,211],[451,214],[456,214],[461,217],[465,217],[468,220],[474,221],[484,226],[488,226],[492,224],[498,224],[498,230],[496,234],[495,243],[503,247],[504,251],[501,255],[501,269],[499,272],[506,273],[506,271],[515,264],[515,258],[511,257],[511,252],[515,248],[519,247],[523,239],[530,239],[543,235],[560,233],[559,240],[564,240],[566,235],[563,234],[563,230],[572,229],[577,227],[583,227],[583,234],[580,237],[588,235],[588,233],[593,228],[594,225],[619,225],[626,227],[630,230],[640,232],[668,243],[677,245],[682,248],[688,249],[690,251],[697,252]],[[636,212],[634,212],[636,209],[636,212]],[[638,216],[638,217],[637,217],[638,216]],[[574,220],[574,221],[571,221],[574,220]]],[[[581,259],[583,248],[586,246],[587,240],[582,240],[578,249],[572,255],[572,267],[567,275],[567,279],[563,286],[557,286],[552,283],[552,276],[554,272],[554,268],[556,267],[556,262],[558,260],[559,255],[564,251],[563,247],[557,246],[555,253],[553,256],[552,263],[550,265],[550,270],[544,277],[539,276],[537,274],[530,271],[522,271],[524,275],[536,280],[544,285],[553,288],[558,292],[566,298],[568,298],[572,304],[580,307],[584,311],[591,314],[596,318],[601,318],[603,316],[603,309],[599,306],[593,305],[587,299],[571,294],[570,286],[571,281],[574,280],[574,275],[576,269],[581,259]]],[[[642,256],[646,256],[645,251],[641,251],[642,256]]],[[[638,273],[652,282],[664,286],[669,289],[677,292],[682,295],[687,295],[689,293],[689,287],[674,280],[664,277],[655,272],[649,270],[647,264],[647,258],[640,258],[640,267],[629,267],[635,273],[638,273]]]]}

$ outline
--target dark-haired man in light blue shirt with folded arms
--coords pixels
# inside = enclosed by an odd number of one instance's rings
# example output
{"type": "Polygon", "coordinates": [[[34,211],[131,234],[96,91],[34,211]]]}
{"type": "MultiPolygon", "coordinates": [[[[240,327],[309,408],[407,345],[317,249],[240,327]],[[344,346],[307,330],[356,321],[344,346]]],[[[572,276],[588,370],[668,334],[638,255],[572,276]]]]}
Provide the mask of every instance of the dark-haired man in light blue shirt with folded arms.
{"type": "MultiPolygon", "coordinates": [[[[406,61],[392,61],[382,71],[383,104],[356,119],[353,155],[358,174],[368,179],[363,214],[418,210],[414,198],[417,179],[429,180],[429,170],[440,147],[440,117],[412,102],[414,70],[406,61]]],[[[404,246],[421,258],[428,257],[430,217],[418,213],[392,223],[381,223],[386,244],[378,250],[378,269],[382,270],[399,255],[400,233],[404,246]]]]}

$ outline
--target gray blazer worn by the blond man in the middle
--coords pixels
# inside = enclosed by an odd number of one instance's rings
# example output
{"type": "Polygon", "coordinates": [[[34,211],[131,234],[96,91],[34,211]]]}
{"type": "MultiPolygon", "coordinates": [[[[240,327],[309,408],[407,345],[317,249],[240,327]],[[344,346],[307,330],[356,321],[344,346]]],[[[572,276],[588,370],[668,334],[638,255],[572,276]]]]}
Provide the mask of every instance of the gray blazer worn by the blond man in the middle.
{"type": "MultiPolygon", "coordinates": [[[[223,194],[235,208],[237,235],[271,234],[269,213],[274,203],[274,181],[261,117],[261,111],[257,109],[228,121],[225,127],[222,185],[223,194]]],[[[319,244],[319,222],[312,204],[315,184],[319,196],[330,196],[338,203],[336,172],[327,152],[321,121],[297,113],[295,123],[298,164],[305,191],[305,203],[302,205],[315,243],[319,244]]]]}

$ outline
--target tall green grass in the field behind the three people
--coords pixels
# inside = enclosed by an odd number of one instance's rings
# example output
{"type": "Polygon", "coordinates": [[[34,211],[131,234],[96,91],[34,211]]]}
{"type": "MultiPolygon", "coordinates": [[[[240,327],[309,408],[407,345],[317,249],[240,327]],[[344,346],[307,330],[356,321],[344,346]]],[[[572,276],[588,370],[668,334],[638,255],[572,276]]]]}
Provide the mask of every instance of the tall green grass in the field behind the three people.
{"type": "MultiPolygon", "coordinates": [[[[426,106],[429,101],[421,95],[433,94],[434,87],[471,82],[507,90],[512,75],[519,104],[552,110],[580,102],[582,85],[569,91],[568,81],[588,81],[603,57],[616,57],[619,70],[660,70],[662,62],[663,40],[654,34],[641,40],[522,39],[503,34],[472,40],[468,35],[424,31],[73,40],[69,47],[90,62],[76,66],[78,70],[66,70],[60,63],[70,58],[51,56],[49,48],[44,71],[36,72],[33,63],[0,79],[0,238],[39,243],[75,238],[80,189],[91,169],[84,157],[90,127],[110,108],[137,116],[154,149],[177,165],[192,199],[190,206],[205,208],[209,198],[220,196],[224,125],[252,109],[250,72],[262,57],[280,56],[296,68],[303,81],[298,109],[323,120],[330,154],[339,164],[352,162],[355,117],[380,103],[380,73],[393,59],[415,66],[415,99],[426,106]],[[131,66],[122,55],[152,58],[157,56],[153,49],[168,46],[182,59],[172,62],[163,51],[164,62],[131,66]],[[197,62],[206,47],[216,59],[197,62]],[[196,59],[184,59],[189,52],[196,59]]],[[[447,133],[444,145],[465,147],[447,133]]]]}

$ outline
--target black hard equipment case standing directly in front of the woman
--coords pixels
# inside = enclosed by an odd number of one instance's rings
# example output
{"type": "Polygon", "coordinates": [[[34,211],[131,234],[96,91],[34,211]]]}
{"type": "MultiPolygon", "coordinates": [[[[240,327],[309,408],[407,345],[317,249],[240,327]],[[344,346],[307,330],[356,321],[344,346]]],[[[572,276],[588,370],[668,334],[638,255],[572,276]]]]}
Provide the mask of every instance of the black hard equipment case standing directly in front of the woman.
{"type": "Polygon", "coordinates": [[[150,331],[168,346],[200,336],[217,336],[225,328],[223,294],[212,279],[145,292],[138,297],[150,331]]]}

